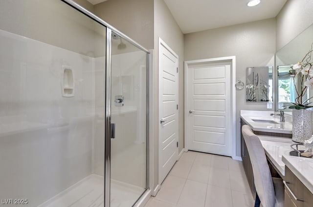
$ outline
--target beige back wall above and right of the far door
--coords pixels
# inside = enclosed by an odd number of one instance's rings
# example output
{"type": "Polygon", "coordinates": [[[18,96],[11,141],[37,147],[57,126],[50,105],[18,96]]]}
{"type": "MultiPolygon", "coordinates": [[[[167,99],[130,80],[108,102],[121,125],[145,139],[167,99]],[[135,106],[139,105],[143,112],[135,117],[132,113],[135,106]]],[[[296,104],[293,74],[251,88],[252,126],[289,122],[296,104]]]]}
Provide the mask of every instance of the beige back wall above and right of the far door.
{"type": "MultiPolygon", "coordinates": [[[[184,36],[184,60],[236,56],[236,80],[246,82],[246,67],[274,65],[275,19],[211,29],[184,36]]],[[[246,103],[236,90],[236,154],[240,156],[240,110],[267,110],[266,103],[246,103]]]]}

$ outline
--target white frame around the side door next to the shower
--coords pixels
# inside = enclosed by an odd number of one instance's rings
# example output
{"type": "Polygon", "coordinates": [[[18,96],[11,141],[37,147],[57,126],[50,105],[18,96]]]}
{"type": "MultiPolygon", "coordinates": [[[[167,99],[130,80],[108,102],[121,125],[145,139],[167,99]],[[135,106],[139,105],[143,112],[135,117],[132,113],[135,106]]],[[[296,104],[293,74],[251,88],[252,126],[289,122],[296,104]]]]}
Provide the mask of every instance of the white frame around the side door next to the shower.
{"type": "MultiPolygon", "coordinates": [[[[157,120],[157,124],[158,124],[158,184],[161,185],[160,182],[160,138],[161,138],[161,124],[160,124],[160,120],[162,119],[162,117],[160,116],[160,111],[161,111],[161,79],[162,79],[162,72],[159,69],[160,68],[160,57],[161,57],[161,46],[163,46],[165,49],[167,49],[170,53],[172,53],[172,55],[174,55],[177,58],[177,67],[179,67],[179,56],[174,52],[174,50],[172,50],[166,43],[165,41],[163,41],[160,37],[158,38],[158,120],[157,120]]],[[[178,104],[178,100],[179,100],[179,73],[177,73],[177,104],[178,104]]],[[[177,122],[179,122],[179,110],[177,110],[177,122]]],[[[179,142],[179,129],[178,129],[178,124],[177,123],[177,129],[176,129],[176,133],[177,133],[177,142],[179,142]]],[[[177,148],[178,150],[178,148],[177,148]]],[[[176,160],[179,159],[179,150],[177,153],[177,158],[176,160]]]]}

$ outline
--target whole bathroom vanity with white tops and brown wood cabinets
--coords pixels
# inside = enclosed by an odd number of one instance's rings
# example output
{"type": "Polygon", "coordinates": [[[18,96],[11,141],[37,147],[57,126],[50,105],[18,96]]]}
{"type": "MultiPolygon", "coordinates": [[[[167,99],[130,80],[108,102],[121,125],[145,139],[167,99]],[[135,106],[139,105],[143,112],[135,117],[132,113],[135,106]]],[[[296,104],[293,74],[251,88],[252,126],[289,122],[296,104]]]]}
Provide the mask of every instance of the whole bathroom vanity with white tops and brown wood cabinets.
{"type": "MultiPolygon", "coordinates": [[[[265,149],[272,177],[281,177],[285,184],[285,207],[313,206],[313,159],[290,156],[291,117],[286,122],[277,122],[279,118],[269,116],[269,111],[241,111],[241,126],[248,124],[258,135],[265,149]],[[254,122],[253,120],[266,120],[254,122]],[[275,136],[280,135],[280,136],[275,136]]],[[[246,144],[241,134],[241,156],[246,177],[255,194],[252,166],[246,144]]]]}

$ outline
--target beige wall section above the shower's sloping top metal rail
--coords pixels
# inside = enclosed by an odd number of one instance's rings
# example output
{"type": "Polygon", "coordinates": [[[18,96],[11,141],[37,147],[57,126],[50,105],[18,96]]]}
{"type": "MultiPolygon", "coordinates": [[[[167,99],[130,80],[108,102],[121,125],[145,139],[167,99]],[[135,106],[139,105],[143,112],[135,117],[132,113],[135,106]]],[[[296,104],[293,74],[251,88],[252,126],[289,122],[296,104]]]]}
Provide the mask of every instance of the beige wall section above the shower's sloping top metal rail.
{"type": "Polygon", "coordinates": [[[107,0],[94,5],[94,14],[141,44],[153,45],[153,0],[107,0]]]}

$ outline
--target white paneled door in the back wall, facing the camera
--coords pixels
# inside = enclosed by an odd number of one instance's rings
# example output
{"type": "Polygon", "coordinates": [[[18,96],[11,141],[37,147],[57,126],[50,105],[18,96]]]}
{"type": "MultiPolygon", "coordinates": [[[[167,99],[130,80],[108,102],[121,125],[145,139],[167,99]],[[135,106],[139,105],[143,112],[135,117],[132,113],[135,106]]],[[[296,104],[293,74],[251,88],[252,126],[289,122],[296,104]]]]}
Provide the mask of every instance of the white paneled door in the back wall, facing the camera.
{"type": "Polygon", "coordinates": [[[231,62],[190,63],[186,71],[187,148],[232,155],[231,62]]]}

